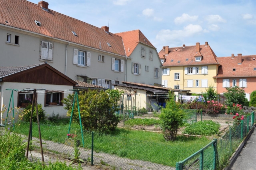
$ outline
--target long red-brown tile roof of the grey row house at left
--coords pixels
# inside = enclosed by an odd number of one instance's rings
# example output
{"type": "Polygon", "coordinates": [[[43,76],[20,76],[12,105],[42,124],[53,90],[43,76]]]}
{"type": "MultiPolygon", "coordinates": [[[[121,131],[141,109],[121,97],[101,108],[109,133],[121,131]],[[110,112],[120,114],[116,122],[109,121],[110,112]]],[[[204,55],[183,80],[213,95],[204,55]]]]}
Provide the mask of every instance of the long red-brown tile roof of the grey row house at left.
{"type": "MultiPolygon", "coordinates": [[[[1,0],[0,24],[125,56],[122,37],[27,0],[1,0]],[[34,20],[41,22],[37,26],[34,20]],[[6,23],[7,21],[8,23],[6,23]],[[76,32],[74,36],[72,31],[76,32]],[[101,48],[100,48],[101,42],[101,48]],[[108,46],[108,43],[112,47],[108,46]]],[[[49,4],[50,6],[50,4],[49,4]]]]}

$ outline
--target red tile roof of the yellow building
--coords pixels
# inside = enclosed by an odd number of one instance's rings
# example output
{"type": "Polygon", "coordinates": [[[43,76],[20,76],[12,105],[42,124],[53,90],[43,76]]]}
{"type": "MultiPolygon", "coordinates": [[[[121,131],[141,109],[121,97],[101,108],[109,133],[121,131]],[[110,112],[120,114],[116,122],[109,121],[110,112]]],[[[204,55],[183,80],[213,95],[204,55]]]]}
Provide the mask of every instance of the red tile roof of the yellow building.
{"type": "MultiPolygon", "coordinates": [[[[168,49],[168,55],[165,56],[166,61],[163,66],[188,66],[188,65],[204,65],[204,64],[218,64],[216,55],[210,48],[210,45],[200,45],[200,53],[202,54],[202,61],[195,62],[195,56],[198,56],[196,46],[174,47],[168,49]],[[186,61],[188,59],[188,61],[186,61]],[[173,62],[171,62],[173,60],[173,62]],[[180,61],[180,63],[178,63],[180,61]]],[[[159,53],[160,58],[164,58],[165,51],[161,50],[159,53]]],[[[199,54],[200,55],[200,54],[199,54]]]]}

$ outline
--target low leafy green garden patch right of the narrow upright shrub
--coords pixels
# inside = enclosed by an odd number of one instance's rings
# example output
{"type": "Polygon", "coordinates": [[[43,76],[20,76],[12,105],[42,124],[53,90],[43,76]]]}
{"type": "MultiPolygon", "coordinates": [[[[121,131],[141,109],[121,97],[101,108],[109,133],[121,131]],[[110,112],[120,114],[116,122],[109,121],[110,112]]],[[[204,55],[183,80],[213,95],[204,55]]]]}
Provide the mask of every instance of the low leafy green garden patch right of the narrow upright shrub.
{"type": "Polygon", "coordinates": [[[204,120],[192,123],[182,133],[190,135],[211,136],[219,134],[220,124],[212,120],[204,120]]]}

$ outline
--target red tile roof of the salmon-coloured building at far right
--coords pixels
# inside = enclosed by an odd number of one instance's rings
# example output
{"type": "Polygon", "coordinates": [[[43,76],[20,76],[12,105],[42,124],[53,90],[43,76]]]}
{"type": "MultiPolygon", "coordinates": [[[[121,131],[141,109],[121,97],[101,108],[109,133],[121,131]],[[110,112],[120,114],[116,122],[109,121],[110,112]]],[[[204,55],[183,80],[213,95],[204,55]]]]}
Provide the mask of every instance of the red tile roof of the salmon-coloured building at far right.
{"type": "Polygon", "coordinates": [[[256,55],[242,56],[242,64],[238,65],[237,56],[234,59],[232,57],[217,57],[221,66],[219,66],[218,74],[215,77],[255,77],[256,60],[253,58],[256,58],[256,55]]]}

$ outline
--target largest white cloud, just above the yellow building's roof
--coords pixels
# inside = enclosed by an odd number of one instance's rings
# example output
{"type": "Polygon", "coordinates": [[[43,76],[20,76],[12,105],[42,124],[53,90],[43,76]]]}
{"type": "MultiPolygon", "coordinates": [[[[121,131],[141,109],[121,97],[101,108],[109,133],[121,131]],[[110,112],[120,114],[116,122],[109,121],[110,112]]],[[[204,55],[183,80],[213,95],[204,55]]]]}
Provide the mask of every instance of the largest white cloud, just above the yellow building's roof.
{"type": "Polygon", "coordinates": [[[190,37],[200,32],[204,32],[200,25],[189,24],[183,30],[160,30],[156,35],[156,39],[165,44],[165,42],[169,41],[181,41],[182,38],[190,37]]]}

